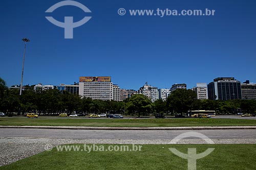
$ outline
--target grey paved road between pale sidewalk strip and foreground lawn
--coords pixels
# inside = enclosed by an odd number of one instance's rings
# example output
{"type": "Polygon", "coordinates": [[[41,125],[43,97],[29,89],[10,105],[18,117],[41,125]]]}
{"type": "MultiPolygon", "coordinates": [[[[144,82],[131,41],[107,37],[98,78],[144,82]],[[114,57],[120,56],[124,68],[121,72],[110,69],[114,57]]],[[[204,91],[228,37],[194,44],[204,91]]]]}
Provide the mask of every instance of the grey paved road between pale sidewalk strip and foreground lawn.
{"type": "MultiPolygon", "coordinates": [[[[187,130],[68,130],[68,129],[0,129],[0,137],[29,137],[57,139],[173,139],[187,130]]],[[[197,130],[210,139],[256,139],[256,129],[197,130]]],[[[193,138],[196,139],[196,138],[193,138]]]]}

